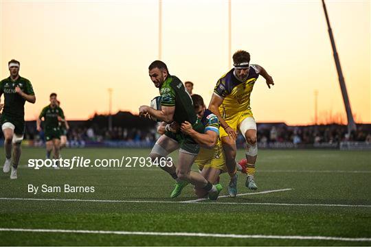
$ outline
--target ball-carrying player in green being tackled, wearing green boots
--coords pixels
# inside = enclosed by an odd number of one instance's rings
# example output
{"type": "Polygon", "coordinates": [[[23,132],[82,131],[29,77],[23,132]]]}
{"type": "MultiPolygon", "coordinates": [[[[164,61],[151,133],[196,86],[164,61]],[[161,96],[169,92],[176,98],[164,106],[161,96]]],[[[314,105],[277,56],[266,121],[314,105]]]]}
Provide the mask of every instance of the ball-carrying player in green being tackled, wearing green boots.
{"type": "MultiPolygon", "coordinates": [[[[156,110],[150,106],[140,106],[139,115],[148,115],[168,124],[175,122],[180,125],[188,121],[192,124],[194,130],[203,133],[203,124],[194,113],[192,99],[186,92],[181,80],[174,75],[170,75],[166,64],[159,60],[152,62],[148,70],[150,80],[159,89],[161,95],[161,110],[156,110]]],[[[157,163],[161,158],[165,158],[171,152],[179,149],[177,167],[168,161],[166,165],[160,165],[161,169],[168,172],[177,181],[177,184],[186,185],[191,183],[197,188],[205,189],[209,193],[209,198],[216,200],[219,190],[215,185],[207,181],[198,172],[191,171],[192,164],[199,153],[199,145],[187,134],[174,133],[169,131],[169,128],[166,128],[166,130],[150,152],[149,156],[153,163],[157,163]]]]}

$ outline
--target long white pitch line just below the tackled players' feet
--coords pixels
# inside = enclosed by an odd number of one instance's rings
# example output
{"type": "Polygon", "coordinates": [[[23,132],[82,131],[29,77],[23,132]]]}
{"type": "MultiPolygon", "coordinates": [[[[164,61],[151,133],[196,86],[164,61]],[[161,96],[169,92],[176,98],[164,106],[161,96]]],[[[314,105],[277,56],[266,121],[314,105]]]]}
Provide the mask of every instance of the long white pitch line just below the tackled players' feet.
{"type": "MultiPolygon", "coordinates": [[[[58,198],[0,198],[0,200],[29,200],[29,201],[56,201],[56,202],[122,202],[122,203],[188,203],[184,201],[160,201],[160,200],[95,200],[95,199],[58,199],[58,198]]],[[[272,206],[308,206],[308,207],[371,207],[362,204],[306,204],[306,203],[275,203],[275,202],[202,202],[203,204],[240,204],[240,205],[272,205],[272,206]]]]}

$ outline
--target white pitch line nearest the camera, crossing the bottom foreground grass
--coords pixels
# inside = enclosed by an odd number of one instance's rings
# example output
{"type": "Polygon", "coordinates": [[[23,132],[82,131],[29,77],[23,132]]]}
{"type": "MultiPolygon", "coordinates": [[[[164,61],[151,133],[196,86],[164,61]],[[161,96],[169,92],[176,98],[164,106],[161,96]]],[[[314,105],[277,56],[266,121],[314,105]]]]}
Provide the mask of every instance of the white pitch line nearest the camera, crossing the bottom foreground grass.
{"type": "Polygon", "coordinates": [[[65,230],[65,229],[27,229],[27,228],[0,228],[0,231],[32,232],[32,233],[90,233],[90,234],[115,234],[115,235],[154,235],[178,237],[230,237],[238,239],[298,239],[298,240],[332,240],[348,242],[371,242],[370,237],[325,237],[325,236],[295,236],[295,235],[240,235],[221,233],[164,233],[142,231],[90,231],[90,230],[65,230]]]}

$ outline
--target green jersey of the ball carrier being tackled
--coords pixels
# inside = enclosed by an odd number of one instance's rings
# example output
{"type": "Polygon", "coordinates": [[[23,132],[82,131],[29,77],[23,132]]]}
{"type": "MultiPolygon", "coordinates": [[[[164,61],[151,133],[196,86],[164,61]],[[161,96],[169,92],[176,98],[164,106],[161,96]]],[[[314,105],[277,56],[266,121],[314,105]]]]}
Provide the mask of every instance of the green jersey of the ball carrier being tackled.
{"type": "Polygon", "coordinates": [[[159,91],[161,106],[175,106],[174,121],[179,124],[184,121],[192,125],[196,123],[197,116],[194,113],[192,98],[179,78],[168,75],[159,91]]]}

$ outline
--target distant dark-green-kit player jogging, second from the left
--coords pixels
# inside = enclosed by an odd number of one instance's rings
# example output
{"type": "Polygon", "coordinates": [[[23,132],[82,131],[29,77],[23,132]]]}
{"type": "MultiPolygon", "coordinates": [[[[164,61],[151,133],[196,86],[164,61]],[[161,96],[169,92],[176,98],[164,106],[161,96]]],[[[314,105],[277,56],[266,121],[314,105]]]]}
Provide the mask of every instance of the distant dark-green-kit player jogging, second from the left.
{"type": "MultiPolygon", "coordinates": [[[[45,106],[36,120],[37,130],[41,131],[41,120],[44,118],[44,132],[46,141],[47,158],[50,158],[52,150],[54,150],[53,158],[59,157],[60,148],[60,128],[59,122],[65,121],[63,110],[57,105],[56,93],[51,93],[49,100],[50,104],[45,106]]],[[[53,166],[58,169],[58,165],[53,166]]]]}

